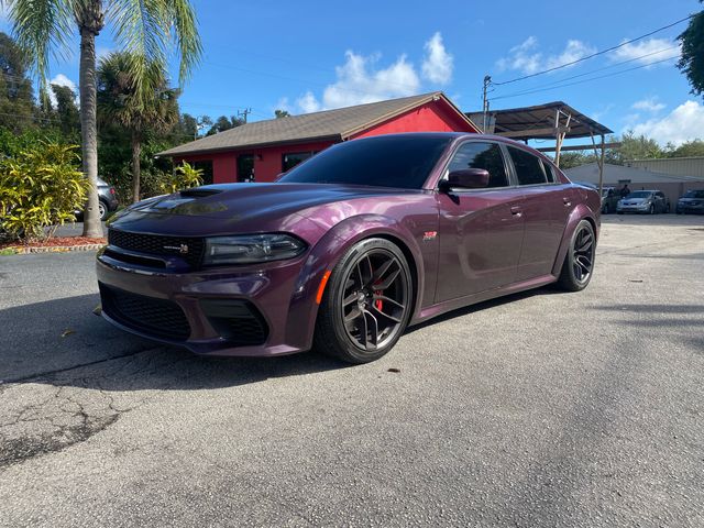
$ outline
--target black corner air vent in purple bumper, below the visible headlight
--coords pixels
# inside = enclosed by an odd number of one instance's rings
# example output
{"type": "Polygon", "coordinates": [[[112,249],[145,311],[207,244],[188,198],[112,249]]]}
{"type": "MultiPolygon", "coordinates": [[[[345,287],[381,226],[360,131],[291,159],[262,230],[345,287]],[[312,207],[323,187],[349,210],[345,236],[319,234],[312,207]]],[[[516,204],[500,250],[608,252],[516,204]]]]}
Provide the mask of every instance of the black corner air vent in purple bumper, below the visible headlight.
{"type": "Polygon", "coordinates": [[[212,328],[233,346],[264,344],[268,327],[260,311],[242,299],[202,299],[200,307],[212,328]]]}

